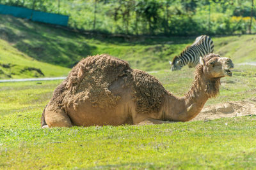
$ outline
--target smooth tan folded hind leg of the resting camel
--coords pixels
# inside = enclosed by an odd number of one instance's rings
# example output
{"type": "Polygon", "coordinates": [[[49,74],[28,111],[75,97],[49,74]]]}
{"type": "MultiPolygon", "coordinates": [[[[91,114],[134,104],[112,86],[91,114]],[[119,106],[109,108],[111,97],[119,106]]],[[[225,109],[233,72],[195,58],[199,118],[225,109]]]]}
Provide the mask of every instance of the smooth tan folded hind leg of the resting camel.
{"type": "Polygon", "coordinates": [[[46,107],[44,117],[48,127],[72,127],[70,118],[62,109],[51,110],[51,107],[46,107]]]}

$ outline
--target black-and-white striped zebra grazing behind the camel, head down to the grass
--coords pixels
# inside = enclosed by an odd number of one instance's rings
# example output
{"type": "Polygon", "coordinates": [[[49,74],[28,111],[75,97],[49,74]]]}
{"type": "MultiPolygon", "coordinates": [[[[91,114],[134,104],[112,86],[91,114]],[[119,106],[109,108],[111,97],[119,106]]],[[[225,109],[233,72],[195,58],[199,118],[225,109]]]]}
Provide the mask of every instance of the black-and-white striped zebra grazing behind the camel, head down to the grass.
{"type": "Polygon", "coordinates": [[[188,67],[195,67],[199,63],[200,57],[212,53],[214,44],[209,36],[198,36],[191,46],[187,46],[180,55],[175,56],[170,62],[171,71],[181,69],[188,64],[188,67]]]}

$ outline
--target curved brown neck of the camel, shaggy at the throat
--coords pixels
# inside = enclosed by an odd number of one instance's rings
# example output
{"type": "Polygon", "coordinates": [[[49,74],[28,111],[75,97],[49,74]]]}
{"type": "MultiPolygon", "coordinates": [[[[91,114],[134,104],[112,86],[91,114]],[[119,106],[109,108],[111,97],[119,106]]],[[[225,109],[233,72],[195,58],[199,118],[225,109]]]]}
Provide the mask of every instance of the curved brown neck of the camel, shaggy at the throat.
{"type": "Polygon", "coordinates": [[[164,119],[186,122],[196,117],[209,97],[219,92],[220,78],[207,80],[204,74],[195,76],[193,86],[184,97],[166,96],[164,119]]]}

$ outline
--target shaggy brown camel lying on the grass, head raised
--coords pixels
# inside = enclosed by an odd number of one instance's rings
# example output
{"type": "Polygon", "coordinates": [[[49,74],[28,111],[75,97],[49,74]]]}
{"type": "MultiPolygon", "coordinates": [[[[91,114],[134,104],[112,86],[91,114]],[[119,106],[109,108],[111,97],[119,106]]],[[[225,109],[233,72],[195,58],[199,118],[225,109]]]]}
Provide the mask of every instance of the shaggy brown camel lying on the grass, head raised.
{"type": "Polygon", "coordinates": [[[220,78],[232,76],[232,60],[210,53],[200,58],[184,97],[164,89],[152,75],[102,54],[82,59],[54,90],[41,127],[144,125],[186,122],[219,94],[220,78]]]}

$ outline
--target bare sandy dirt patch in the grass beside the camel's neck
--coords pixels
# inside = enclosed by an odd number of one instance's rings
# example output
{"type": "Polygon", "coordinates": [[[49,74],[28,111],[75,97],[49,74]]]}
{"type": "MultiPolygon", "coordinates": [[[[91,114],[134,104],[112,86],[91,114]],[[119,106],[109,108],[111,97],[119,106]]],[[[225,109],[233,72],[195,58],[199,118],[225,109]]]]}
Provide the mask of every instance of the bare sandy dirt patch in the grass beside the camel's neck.
{"type": "Polygon", "coordinates": [[[246,115],[256,115],[256,98],[205,106],[193,120],[213,120],[246,115]]]}

